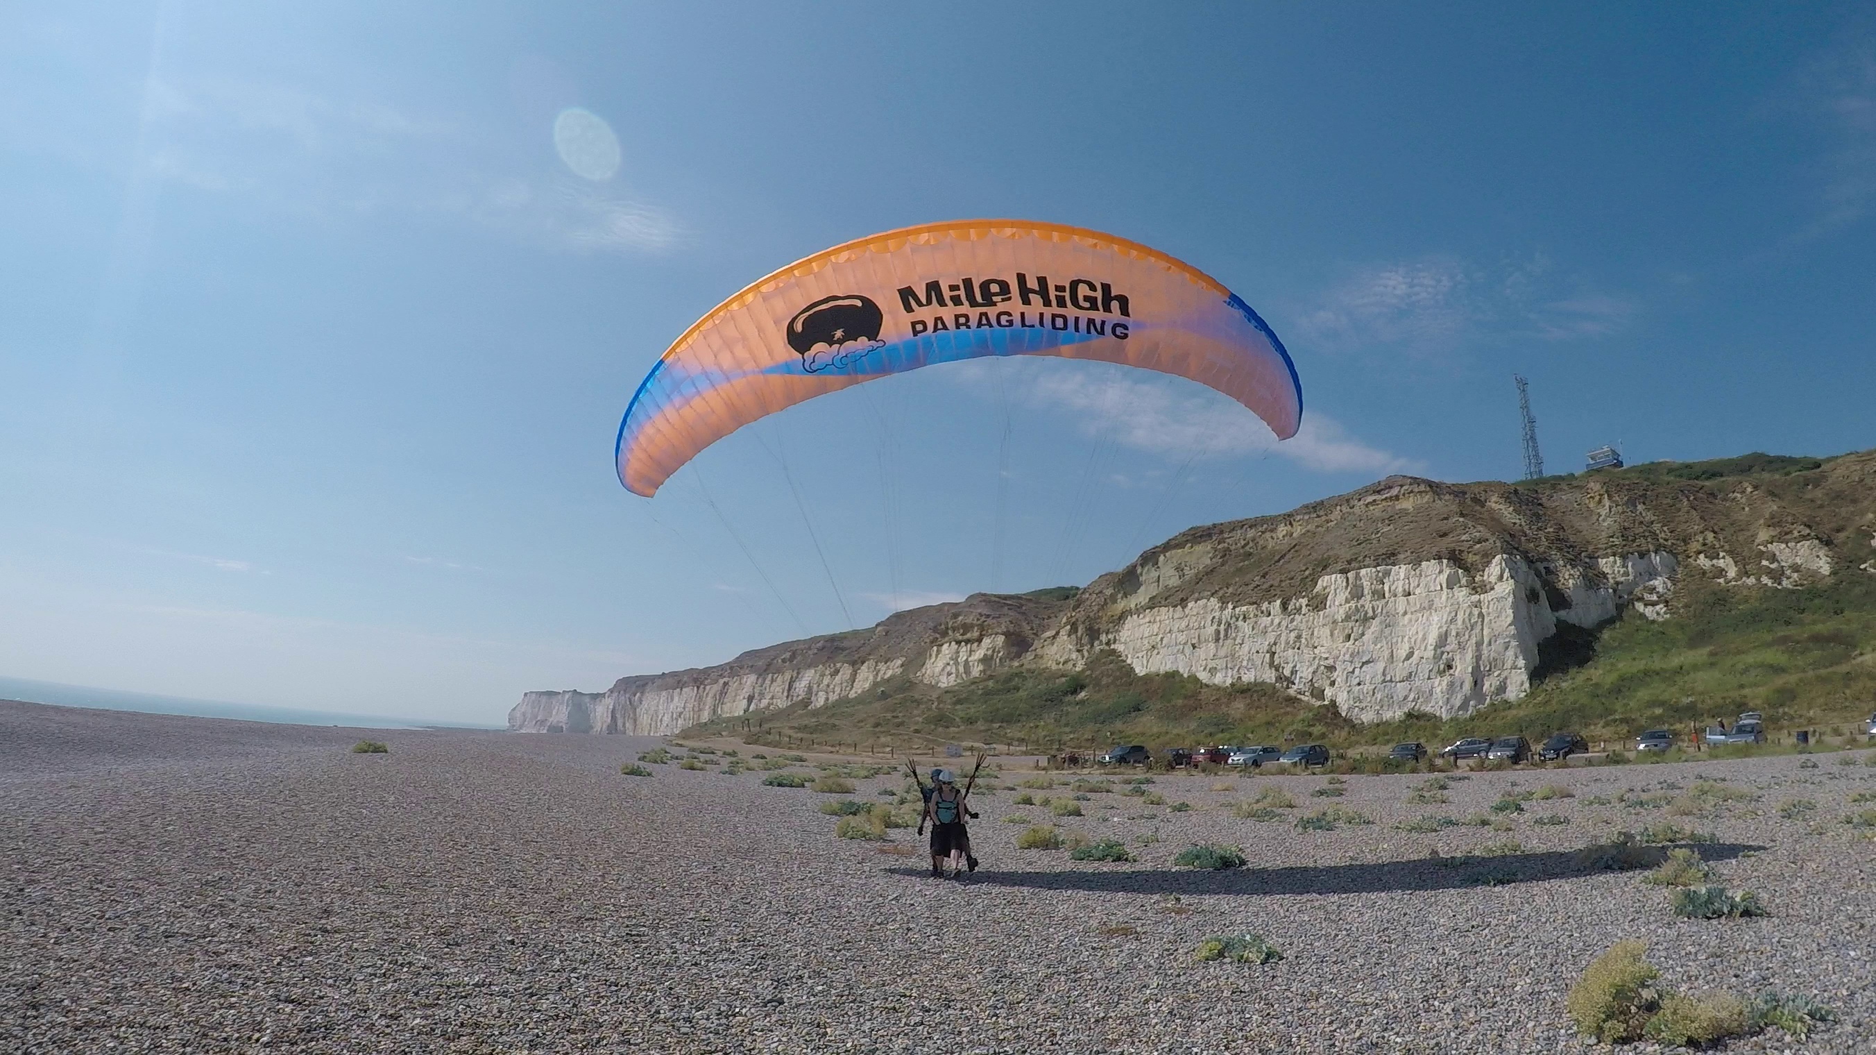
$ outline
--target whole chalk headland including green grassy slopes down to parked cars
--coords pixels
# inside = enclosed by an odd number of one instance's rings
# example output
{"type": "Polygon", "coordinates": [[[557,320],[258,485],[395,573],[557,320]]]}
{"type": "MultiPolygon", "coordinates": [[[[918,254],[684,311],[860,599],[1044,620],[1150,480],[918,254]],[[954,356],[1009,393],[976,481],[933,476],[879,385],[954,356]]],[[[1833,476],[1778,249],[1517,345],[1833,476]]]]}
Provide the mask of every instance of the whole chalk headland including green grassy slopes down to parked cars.
{"type": "MultiPolygon", "coordinates": [[[[1613,646],[1649,685],[1598,693],[1636,715],[1705,713],[1720,696],[1850,713],[1876,696],[1872,618],[1876,451],[1527,482],[1388,477],[1188,529],[1084,589],[979,593],[602,693],[527,693],[508,726],[672,734],[848,713],[850,732],[1060,732],[1148,717],[1172,728],[1184,708],[1210,721],[1178,728],[1223,736],[1255,726],[1248,700],[1317,728],[1450,723],[1546,680],[1583,695],[1598,665],[1615,674],[1613,646]],[[1822,636],[1775,642],[1786,631],[1822,636]],[[1784,659],[1747,663],[1752,642],[1784,659]],[[1705,650],[1694,668],[1675,659],[1688,650],[1705,650]],[[1728,655],[1737,676],[1713,681],[1728,655]],[[1658,670],[1675,665],[1679,676],[1658,670]]],[[[1587,706],[1572,700],[1553,702],[1587,706]]]]}

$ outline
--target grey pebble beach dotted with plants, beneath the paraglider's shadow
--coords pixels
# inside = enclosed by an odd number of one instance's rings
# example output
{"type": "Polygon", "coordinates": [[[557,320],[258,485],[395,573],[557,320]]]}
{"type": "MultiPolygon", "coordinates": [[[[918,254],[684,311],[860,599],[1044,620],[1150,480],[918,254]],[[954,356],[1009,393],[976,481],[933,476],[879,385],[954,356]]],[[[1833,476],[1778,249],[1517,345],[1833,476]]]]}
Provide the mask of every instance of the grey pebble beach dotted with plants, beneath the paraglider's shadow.
{"type": "Polygon", "coordinates": [[[934,880],[912,830],[839,839],[820,809],[893,802],[902,772],[818,794],[673,749],[621,773],[662,743],[0,702],[0,1049],[1589,1051],[1565,997],[1623,939],[1673,987],[1835,1010],[1726,1051],[1876,1047],[1876,828],[1855,820],[1876,751],[1439,790],[1156,773],[1156,803],[1135,773],[1073,798],[1073,775],[992,758],[983,867],[934,880]],[[1264,788],[1294,805],[1246,817],[1264,788]],[[1298,826],[1330,807],[1343,822],[1298,826]],[[1017,849],[1037,824],[1137,860],[1017,849]],[[1769,914],[1683,920],[1640,873],[1583,867],[1651,824],[1711,835],[1717,882],[1769,914]],[[1174,867],[1195,843],[1248,865],[1174,867]],[[1283,957],[1195,959],[1242,933],[1283,957]]]}

